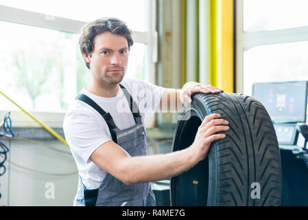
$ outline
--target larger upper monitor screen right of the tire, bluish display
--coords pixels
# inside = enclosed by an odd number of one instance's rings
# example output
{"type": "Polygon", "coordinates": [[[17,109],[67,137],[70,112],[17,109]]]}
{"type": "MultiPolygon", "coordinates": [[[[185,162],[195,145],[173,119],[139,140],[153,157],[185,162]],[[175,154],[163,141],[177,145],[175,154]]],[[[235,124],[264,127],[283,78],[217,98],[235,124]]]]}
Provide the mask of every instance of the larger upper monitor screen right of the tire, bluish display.
{"type": "Polygon", "coordinates": [[[307,81],[254,83],[252,96],[264,105],[274,123],[306,122],[307,81]]]}

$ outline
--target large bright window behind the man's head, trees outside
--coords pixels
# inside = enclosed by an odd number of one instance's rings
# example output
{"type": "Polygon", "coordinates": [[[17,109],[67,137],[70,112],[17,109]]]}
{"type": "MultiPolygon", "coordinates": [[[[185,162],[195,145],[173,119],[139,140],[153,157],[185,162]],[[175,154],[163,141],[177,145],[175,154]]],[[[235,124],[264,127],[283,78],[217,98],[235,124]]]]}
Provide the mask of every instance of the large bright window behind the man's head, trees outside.
{"type": "MultiPolygon", "coordinates": [[[[27,111],[67,110],[90,77],[78,45],[80,28],[100,17],[117,17],[132,29],[134,45],[126,76],[154,83],[154,1],[3,0],[1,4],[0,91],[27,111]]],[[[2,96],[0,111],[15,110],[19,108],[2,96]]]]}

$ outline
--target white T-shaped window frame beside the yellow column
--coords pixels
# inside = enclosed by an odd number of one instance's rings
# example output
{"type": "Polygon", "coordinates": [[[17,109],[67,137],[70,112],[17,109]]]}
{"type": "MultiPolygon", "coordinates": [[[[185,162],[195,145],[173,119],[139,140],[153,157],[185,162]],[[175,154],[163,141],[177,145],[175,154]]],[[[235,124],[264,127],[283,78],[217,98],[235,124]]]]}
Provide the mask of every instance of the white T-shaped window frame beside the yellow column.
{"type": "Polygon", "coordinates": [[[308,41],[308,25],[280,30],[244,32],[244,0],[236,1],[236,92],[244,92],[245,48],[308,41]]]}

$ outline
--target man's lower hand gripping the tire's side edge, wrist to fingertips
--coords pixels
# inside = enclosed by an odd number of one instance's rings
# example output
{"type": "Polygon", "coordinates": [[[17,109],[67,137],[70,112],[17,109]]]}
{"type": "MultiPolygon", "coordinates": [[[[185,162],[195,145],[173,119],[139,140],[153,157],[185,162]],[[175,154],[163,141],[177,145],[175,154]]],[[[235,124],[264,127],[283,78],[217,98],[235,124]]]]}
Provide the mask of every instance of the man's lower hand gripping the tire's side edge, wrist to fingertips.
{"type": "Polygon", "coordinates": [[[224,133],[217,132],[228,131],[229,126],[227,124],[229,124],[229,122],[222,119],[221,115],[217,113],[207,115],[204,118],[202,124],[198,128],[195,140],[190,146],[193,155],[196,155],[197,163],[205,158],[212,142],[226,137],[224,133]]]}

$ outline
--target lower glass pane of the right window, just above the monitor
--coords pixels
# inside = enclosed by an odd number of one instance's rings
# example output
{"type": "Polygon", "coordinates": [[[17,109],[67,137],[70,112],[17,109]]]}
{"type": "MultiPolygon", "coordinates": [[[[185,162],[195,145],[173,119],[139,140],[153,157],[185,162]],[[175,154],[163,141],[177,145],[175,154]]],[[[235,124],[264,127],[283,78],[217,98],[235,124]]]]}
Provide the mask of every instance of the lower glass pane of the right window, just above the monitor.
{"type": "Polygon", "coordinates": [[[252,94],[252,83],[308,80],[307,51],[308,41],[244,51],[244,94],[252,94]]]}

